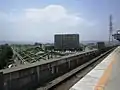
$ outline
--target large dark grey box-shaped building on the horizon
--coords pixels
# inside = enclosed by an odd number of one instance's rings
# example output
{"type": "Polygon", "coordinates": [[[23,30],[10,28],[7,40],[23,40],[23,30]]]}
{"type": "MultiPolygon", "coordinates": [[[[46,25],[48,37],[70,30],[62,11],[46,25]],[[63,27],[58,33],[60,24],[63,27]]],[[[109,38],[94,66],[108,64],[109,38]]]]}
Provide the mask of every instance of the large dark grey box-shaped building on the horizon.
{"type": "Polygon", "coordinates": [[[56,49],[78,49],[79,34],[56,34],[54,45],[56,49]]]}

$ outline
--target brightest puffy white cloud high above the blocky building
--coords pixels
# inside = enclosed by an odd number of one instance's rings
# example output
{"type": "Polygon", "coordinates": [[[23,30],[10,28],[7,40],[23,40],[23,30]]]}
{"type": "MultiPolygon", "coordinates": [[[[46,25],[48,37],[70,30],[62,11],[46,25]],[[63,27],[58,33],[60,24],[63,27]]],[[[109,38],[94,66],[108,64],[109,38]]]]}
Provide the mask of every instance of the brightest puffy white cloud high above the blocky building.
{"type": "Polygon", "coordinates": [[[58,21],[67,17],[67,11],[64,7],[50,5],[43,9],[26,9],[26,18],[34,20],[58,21]]]}

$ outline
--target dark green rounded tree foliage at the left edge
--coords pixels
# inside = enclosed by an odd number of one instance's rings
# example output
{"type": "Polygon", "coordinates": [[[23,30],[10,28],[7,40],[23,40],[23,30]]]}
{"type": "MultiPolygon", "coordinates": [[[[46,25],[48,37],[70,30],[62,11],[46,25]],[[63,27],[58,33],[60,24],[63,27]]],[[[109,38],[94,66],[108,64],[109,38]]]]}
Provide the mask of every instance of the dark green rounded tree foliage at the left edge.
{"type": "Polygon", "coordinates": [[[13,51],[8,44],[0,46],[0,69],[3,69],[12,58],[13,51]]]}

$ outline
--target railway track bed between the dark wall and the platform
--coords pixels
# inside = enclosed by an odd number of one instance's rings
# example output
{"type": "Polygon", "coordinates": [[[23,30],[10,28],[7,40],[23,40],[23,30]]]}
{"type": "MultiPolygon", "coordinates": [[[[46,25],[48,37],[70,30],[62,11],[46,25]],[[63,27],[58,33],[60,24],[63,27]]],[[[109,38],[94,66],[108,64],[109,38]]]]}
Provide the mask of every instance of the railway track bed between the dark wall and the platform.
{"type": "Polygon", "coordinates": [[[45,86],[36,90],[69,90],[77,81],[84,77],[97,64],[99,64],[113,49],[101,54],[100,56],[90,60],[89,62],[73,69],[72,71],[56,78],[47,83],[45,86]]]}

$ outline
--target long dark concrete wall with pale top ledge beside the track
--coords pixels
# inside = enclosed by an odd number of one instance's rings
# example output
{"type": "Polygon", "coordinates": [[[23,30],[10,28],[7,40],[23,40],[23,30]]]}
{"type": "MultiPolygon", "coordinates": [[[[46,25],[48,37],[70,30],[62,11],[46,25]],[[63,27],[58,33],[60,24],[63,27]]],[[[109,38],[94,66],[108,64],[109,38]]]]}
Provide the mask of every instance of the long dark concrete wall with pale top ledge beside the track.
{"type": "MultiPolygon", "coordinates": [[[[1,70],[3,74],[0,76],[4,77],[4,80],[2,80],[4,82],[4,90],[33,90],[88,62],[100,53],[98,50],[92,50],[46,62],[20,65],[18,67],[1,70]]],[[[1,85],[0,83],[0,87],[1,85]]]]}

